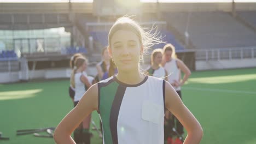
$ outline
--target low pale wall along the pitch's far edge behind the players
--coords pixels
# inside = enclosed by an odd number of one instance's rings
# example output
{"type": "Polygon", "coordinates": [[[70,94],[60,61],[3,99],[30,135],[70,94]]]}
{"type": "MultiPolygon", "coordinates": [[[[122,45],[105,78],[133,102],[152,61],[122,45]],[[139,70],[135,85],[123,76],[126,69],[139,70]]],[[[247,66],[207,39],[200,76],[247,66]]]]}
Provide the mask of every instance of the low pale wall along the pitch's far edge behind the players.
{"type": "MultiPolygon", "coordinates": [[[[142,69],[147,69],[149,64],[142,64],[142,69]]],[[[256,58],[254,59],[232,59],[220,61],[196,61],[196,70],[216,70],[216,69],[235,69],[235,68],[252,68],[256,67],[256,58]]],[[[70,68],[63,69],[46,69],[29,71],[30,79],[69,79],[72,70],[70,68]]],[[[89,67],[86,71],[88,75],[97,75],[96,67],[89,67]]],[[[2,72],[0,73],[0,83],[18,82],[20,81],[20,71],[2,72]]],[[[256,73],[256,71],[255,71],[256,73]]]]}

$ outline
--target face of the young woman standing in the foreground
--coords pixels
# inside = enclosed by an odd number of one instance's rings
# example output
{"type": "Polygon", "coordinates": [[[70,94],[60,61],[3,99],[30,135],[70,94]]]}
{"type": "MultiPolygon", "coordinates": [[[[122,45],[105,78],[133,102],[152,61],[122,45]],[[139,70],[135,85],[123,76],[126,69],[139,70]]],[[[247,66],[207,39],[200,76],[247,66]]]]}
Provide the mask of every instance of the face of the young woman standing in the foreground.
{"type": "Polygon", "coordinates": [[[119,30],[112,36],[109,54],[118,70],[132,71],[138,69],[142,45],[138,36],[126,30],[119,30]]]}

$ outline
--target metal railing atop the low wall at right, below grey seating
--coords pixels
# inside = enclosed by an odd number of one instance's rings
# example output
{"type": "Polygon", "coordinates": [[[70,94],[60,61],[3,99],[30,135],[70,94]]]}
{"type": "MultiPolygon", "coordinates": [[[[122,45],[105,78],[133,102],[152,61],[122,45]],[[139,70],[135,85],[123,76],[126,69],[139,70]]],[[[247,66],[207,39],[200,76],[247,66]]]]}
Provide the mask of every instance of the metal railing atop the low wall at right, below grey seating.
{"type": "Polygon", "coordinates": [[[223,59],[256,58],[256,46],[223,49],[195,49],[197,61],[219,61],[223,59]]]}

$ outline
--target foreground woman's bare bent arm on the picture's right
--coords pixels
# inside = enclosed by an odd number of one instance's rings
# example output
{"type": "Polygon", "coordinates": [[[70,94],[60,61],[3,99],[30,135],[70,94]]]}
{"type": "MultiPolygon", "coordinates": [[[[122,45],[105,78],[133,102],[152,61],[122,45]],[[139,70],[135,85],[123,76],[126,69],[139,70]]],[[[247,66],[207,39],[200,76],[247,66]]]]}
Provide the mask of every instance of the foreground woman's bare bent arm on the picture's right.
{"type": "Polygon", "coordinates": [[[200,143],[203,135],[200,123],[182,103],[181,98],[179,98],[179,95],[169,82],[166,82],[165,85],[165,99],[166,108],[178,118],[179,122],[181,122],[188,131],[184,144],[200,143]]]}

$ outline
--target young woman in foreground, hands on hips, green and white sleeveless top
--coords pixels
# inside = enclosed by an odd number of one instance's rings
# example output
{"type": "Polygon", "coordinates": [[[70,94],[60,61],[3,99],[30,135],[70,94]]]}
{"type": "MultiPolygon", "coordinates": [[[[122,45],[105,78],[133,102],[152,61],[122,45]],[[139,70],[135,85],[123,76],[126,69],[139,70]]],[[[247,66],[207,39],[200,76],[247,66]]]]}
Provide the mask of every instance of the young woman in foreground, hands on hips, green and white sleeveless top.
{"type": "Polygon", "coordinates": [[[91,86],[78,105],[62,119],[54,133],[56,143],[75,143],[72,131],[97,110],[103,125],[103,143],[164,143],[165,107],[187,129],[184,143],[199,143],[202,128],[179,95],[165,80],[143,75],[139,60],[158,38],[133,20],[118,19],[109,31],[109,55],[116,76],[91,86]]]}

